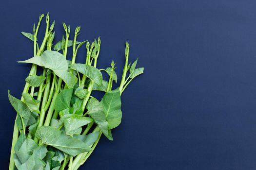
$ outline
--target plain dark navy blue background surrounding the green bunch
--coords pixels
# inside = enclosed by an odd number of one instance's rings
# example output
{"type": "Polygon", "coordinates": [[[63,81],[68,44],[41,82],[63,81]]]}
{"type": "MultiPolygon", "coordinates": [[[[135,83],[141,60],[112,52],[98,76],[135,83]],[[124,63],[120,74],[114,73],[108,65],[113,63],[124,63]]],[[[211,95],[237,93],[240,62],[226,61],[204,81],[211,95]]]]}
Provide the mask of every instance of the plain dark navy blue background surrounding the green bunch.
{"type": "Polygon", "coordinates": [[[62,21],[81,25],[80,41],[101,36],[98,66],[114,59],[119,82],[126,40],[130,61],[145,67],[122,95],[114,141],[102,137],[81,170],[256,169],[255,0],[1,1],[1,169],[15,119],[7,89],[20,98],[30,67],[17,61],[33,55],[20,32],[47,12],[55,42],[62,21]]]}

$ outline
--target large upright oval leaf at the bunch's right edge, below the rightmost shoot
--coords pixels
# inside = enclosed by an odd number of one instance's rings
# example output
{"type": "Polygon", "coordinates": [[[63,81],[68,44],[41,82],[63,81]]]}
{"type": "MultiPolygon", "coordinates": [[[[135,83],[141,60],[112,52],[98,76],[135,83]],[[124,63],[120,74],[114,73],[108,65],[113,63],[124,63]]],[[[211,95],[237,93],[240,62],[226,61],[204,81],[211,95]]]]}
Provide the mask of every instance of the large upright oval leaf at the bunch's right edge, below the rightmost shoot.
{"type": "Polygon", "coordinates": [[[119,88],[108,91],[102,98],[104,113],[107,117],[110,129],[117,127],[121,123],[121,99],[119,88]]]}

